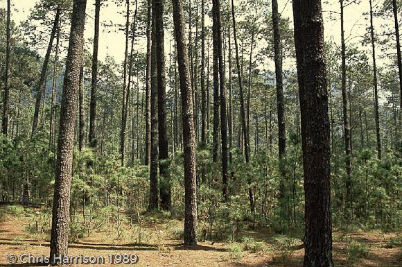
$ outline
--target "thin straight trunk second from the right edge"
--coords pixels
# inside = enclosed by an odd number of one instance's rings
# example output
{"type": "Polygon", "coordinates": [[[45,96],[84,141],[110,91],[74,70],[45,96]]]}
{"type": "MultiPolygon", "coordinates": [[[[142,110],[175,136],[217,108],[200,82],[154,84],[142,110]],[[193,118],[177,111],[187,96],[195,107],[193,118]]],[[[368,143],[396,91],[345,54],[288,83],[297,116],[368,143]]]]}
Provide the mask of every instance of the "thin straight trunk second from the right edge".
{"type": "Polygon", "coordinates": [[[378,79],[377,79],[377,65],[376,65],[376,40],[374,40],[374,26],[373,26],[373,3],[370,0],[370,34],[372,36],[372,56],[373,56],[373,75],[374,75],[374,114],[376,119],[376,137],[377,137],[377,157],[381,160],[381,135],[380,135],[380,116],[378,114],[378,79]]]}

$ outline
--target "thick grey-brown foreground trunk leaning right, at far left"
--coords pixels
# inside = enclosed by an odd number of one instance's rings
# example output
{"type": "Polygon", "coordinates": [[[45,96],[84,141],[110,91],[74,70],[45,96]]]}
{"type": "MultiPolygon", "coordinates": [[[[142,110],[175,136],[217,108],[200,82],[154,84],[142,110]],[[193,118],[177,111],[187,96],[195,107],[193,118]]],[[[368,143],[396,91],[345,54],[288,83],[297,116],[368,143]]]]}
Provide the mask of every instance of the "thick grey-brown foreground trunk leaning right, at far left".
{"type": "Polygon", "coordinates": [[[86,6],[87,0],[75,0],[73,2],[69,51],[64,75],[50,242],[50,259],[56,264],[61,262],[59,260],[55,262],[55,257],[68,255],[74,128],[84,44],[86,6]]]}

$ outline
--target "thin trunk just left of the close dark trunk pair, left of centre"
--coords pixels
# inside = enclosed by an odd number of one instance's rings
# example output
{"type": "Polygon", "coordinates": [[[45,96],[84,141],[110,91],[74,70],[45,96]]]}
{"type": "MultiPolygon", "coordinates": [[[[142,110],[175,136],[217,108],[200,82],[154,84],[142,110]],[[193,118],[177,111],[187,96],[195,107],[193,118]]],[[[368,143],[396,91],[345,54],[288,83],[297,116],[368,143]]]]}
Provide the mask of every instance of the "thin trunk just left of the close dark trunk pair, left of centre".
{"type": "Polygon", "coordinates": [[[145,128],[146,128],[146,140],[145,140],[145,164],[150,166],[150,83],[151,83],[151,0],[147,1],[147,28],[146,28],[146,103],[145,103],[145,128]]]}

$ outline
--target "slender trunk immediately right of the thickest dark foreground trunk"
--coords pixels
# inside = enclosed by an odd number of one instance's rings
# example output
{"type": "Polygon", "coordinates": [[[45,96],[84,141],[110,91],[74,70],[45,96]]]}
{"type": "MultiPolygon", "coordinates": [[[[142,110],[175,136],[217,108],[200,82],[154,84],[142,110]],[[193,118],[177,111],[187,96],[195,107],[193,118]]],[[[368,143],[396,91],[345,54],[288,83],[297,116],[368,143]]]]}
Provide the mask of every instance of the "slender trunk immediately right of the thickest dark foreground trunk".
{"type": "MultiPolygon", "coordinates": [[[[344,0],[340,0],[340,39],[342,46],[342,107],[343,107],[343,128],[344,128],[344,151],[346,154],[345,164],[347,178],[345,187],[347,191],[347,207],[351,205],[351,132],[349,119],[347,117],[347,92],[346,92],[346,46],[344,42],[344,0]]],[[[345,214],[347,215],[347,214],[345,214]]]]}

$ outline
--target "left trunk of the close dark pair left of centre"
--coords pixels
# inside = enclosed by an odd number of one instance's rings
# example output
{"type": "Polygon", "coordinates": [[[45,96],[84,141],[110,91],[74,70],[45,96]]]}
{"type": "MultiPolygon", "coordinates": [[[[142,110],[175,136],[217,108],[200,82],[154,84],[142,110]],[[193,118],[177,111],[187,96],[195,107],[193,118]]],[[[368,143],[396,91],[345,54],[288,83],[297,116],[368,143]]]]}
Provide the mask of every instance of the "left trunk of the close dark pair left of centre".
{"type": "MultiPolygon", "coordinates": [[[[153,11],[153,10],[152,10],[153,11]]],[[[155,12],[152,12],[150,80],[150,210],[158,209],[158,80],[155,12]]]]}

